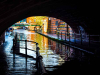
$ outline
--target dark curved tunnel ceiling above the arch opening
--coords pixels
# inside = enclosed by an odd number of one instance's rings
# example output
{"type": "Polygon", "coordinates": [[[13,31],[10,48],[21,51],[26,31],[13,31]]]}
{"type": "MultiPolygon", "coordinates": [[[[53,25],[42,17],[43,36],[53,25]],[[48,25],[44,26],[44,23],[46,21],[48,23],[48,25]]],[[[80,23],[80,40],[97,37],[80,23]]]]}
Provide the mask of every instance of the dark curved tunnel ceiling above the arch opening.
{"type": "Polygon", "coordinates": [[[61,19],[68,23],[76,32],[77,26],[80,25],[88,33],[96,34],[98,32],[97,29],[94,31],[96,22],[92,12],[92,4],[88,6],[88,3],[84,4],[85,2],[79,4],[78,2],[65,2],[63,0],[22,1],[22,3],[19,1],[20,4],[16,1],[1,3],[1,6],[3,6],[0,8],[2,11],[0,12],[0,26],[3,27],[0,28],[1,33],[17,21],[30,16],[50,16],[61,19]]]}

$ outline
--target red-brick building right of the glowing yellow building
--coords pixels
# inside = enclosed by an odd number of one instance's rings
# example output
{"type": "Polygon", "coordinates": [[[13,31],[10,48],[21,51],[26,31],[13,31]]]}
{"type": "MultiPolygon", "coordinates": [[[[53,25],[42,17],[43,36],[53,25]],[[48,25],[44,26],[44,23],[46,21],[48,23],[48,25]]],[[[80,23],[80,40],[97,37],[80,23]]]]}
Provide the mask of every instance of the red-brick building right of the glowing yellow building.
{"type": "Polygon", "coordinates": [[[51,34],[56,34],[58,31],[62,32],[62,35],[65,34],[65,32],[67,33],[71,33],[72,34],[72,28],[68,25],[67,27],[67,23],[65,23],[64,21],[60,20],[60,19],[56,19],[53,17],[49,17],[50,19],[50,26],[48,28],[49,33],[51,34]]]}

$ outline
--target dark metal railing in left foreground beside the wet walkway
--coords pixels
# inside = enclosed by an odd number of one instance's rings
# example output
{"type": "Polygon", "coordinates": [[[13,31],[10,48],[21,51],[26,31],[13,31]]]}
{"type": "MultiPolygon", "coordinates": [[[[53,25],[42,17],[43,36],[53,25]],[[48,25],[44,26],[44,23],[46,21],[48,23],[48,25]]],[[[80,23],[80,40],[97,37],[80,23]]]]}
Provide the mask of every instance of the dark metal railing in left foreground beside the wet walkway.
{"type": "Polygon", "coordinates": [[[20,43],[20,41],[25,41],[25,48],[24,47],[20,47],[20,46],[19,46],[19,48],[24,48],[25,49],[26,62],[27,62],[27,50],[35,51],[36,52],[37,73],[39,75],[47,74],[47,72],[46,72],[46,70],[44,68],[43,61],[42,61],[42,56],[39,53],[39,47],[38,47],[38,43],[37,42],[28,41],[28,40],[17,40],[17,33],[16,33],[15,37],[13,39],[13,54],[15,54],[16,45],[17,45],[17,43],[20,43]],[[36,50],[28,49],[27,48],[27,42],[35,43],[36,44],[36,50]]]}

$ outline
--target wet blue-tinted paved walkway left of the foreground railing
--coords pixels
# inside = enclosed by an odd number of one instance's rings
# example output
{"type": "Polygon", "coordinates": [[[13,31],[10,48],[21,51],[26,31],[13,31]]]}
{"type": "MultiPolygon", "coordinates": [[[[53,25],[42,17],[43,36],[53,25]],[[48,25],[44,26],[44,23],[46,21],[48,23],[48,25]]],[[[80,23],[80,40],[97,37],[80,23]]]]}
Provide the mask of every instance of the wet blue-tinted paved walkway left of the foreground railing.
{"type": "Polygon", "coordinates": [[[34,75],[37,71],[35,60],[20,55],[13,55],[11,48],[13,37],[6,35],[5,43],[0,46],[0,74],[1,75],[34,75]],[[14,57],[15,56],[15,57],[14,57]]]}

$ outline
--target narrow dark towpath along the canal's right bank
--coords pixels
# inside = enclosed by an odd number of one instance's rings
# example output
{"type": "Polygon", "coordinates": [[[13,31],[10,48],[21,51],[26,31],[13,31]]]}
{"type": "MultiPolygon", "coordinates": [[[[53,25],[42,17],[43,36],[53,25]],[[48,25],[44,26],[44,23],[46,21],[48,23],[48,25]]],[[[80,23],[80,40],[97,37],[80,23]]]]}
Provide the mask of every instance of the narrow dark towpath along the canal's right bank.
{"type": "Polygon", "coordinates": [[[52,38],[54,40],[58,40],[59,42],[63,43],[63,44],[69,44],[71,47],[92,53],[92,54],[99,54],[100,51],[100,47],[99,47],[99,41],[94,41],[93,40],[89,40],[89,36],[86,38],[81,38],[79,34],[77,38],[75,38],[75,36],[69,37],[66,35],[59,35],[59,39],[57,34],[48,34],[48,33],[41,33],[38,32],[39,34],[42,34],[46,37],[52,38]],[[66,39],[65,39],[66,38],[66,39]]]}

